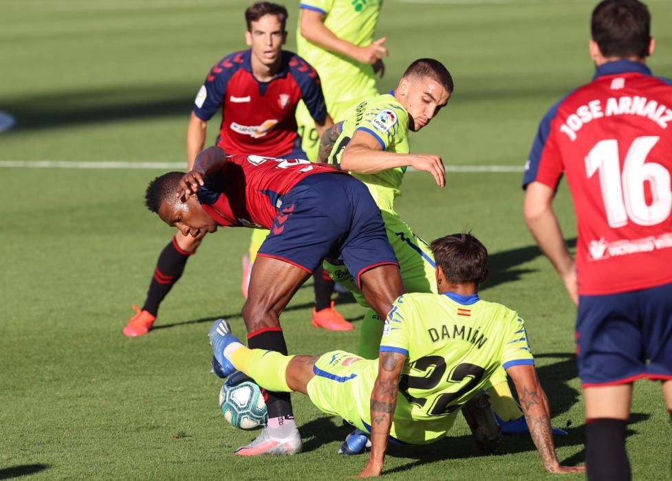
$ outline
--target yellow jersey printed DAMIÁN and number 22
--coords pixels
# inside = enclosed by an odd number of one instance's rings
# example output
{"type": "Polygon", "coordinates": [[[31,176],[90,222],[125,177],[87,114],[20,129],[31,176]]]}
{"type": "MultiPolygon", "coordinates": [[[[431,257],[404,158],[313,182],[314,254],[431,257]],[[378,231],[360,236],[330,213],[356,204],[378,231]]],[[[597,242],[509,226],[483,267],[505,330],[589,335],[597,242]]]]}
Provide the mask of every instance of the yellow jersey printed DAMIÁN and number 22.
{"type": "Polygon", "coordinates": [[[387,316],[380,351],[407,356],[393,436],[412,444],[445,436],[460,405],[499,366],[534,364],[519,315],[478,295],[402,295],[387,316]]]}

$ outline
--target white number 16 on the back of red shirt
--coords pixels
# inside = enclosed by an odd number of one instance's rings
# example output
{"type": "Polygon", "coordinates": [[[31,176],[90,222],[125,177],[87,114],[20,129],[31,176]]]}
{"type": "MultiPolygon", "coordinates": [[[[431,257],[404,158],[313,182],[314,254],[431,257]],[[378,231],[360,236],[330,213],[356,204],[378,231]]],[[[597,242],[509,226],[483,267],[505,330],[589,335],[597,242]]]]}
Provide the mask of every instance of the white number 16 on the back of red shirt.
{"type": "Polygon", "coordinates": [[[637,137],[625,156],[622,172],[616,139],[601,140],[585,157],[587,177],[600,172],[600,190],[610,227],[623,227],[628,219],[638,225],[655,225],[669,216],[670,172],[660,164],[646,161],[659,139],[637,137]],[[646,182],[651,188],[651,204],[647,204],[644,191],[646,182]]]}

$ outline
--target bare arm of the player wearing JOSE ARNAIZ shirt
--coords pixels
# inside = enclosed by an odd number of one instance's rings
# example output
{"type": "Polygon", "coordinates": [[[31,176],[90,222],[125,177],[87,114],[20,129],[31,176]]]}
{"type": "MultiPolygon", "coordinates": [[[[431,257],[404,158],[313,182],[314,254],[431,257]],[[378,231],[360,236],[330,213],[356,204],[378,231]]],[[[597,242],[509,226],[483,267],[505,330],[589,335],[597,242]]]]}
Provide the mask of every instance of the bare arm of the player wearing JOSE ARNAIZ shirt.
{"type": "Polygon", "coordinates": [[[525,189],[525,223],[541,251],[565,282],[570,298],[578,304],[576,267],[553,210],[554,195],[555,191],[545,183],[534,181],[528,184],[525,189]]]}

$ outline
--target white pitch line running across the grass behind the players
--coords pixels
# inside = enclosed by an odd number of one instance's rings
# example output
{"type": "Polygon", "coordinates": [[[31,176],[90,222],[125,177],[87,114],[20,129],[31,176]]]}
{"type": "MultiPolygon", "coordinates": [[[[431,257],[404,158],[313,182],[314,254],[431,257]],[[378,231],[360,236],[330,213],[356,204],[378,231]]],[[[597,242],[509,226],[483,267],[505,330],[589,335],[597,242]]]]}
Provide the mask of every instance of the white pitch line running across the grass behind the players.
{"type": "MultiPolygon", "coordinates": [[[[184,162],[0,160],[0,168],[184,170],[184,162]]],[[[446,166],[446,172],[523,172],[522,166],[446,166]]],[[[409,168],[410,172],[415,171],[409,168]]]]}

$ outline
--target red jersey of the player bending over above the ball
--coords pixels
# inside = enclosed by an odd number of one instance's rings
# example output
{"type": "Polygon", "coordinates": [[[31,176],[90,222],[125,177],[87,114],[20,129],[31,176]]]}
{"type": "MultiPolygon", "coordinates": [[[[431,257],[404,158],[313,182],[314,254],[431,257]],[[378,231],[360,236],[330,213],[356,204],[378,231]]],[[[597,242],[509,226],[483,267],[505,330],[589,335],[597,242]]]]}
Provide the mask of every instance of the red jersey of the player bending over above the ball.
{"type": "Polygon", "coordinates": [[[221,175],[206,178],[196,195],[219,225],[270,230],[283,195],[306,177],[325,172],[347,175],[305,159],[228,155],[221,175]]]}

